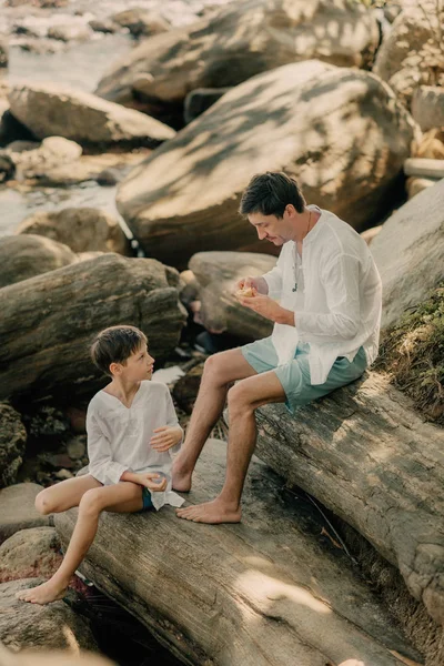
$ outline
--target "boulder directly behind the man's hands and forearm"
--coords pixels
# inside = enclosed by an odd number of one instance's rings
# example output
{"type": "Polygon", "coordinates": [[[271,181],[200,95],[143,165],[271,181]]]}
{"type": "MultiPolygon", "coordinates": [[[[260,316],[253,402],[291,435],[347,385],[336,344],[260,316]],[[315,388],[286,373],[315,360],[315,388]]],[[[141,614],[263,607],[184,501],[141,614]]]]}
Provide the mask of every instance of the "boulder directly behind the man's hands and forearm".
{"type": "Polygon", "coordinates": [[[190,261],[198,283],[199,321],[212,333],[230,333],[251,341],[270,335],[272,322],[244,307],[234,296],[235,283],[245,275],[263,275],[275,266],[268,254],[199,252],[190,261]]]}

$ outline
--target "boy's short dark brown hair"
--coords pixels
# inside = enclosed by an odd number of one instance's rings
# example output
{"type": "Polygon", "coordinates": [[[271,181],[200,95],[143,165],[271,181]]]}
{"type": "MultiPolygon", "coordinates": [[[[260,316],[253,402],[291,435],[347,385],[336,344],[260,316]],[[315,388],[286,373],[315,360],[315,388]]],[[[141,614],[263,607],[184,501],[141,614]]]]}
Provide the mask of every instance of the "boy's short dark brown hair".
{"type": "Polygon", "coordinates": [[[94,365],[109,376],[111,363],[125,364],[148,339],[135,326],[110,326],[98,333],[91,345],[91,359],[94,365]]]}

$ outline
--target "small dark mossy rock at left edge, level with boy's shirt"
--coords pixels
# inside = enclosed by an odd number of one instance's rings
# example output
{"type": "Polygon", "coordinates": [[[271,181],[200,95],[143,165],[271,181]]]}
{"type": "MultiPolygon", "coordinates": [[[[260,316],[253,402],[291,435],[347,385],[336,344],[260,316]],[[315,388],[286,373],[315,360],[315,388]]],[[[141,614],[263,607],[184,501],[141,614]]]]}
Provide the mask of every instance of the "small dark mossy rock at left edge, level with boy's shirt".
{"type": "Polygon", "coordinates": [[[20,414],[0,403],[0,488],[17,482],[26,445],[27,431],[20,414]]]}

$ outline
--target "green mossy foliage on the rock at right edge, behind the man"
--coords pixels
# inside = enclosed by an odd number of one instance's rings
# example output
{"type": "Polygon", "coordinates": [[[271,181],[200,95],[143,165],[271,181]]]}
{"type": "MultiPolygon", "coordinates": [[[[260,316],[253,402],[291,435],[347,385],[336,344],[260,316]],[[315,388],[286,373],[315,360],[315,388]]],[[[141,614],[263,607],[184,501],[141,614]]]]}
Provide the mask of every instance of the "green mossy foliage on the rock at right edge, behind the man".
{"type": "Polygon", "coordinates": [[[389,372],[424,416],[444,425],[444,284],[385,332],[375,369],[389,372]]]}

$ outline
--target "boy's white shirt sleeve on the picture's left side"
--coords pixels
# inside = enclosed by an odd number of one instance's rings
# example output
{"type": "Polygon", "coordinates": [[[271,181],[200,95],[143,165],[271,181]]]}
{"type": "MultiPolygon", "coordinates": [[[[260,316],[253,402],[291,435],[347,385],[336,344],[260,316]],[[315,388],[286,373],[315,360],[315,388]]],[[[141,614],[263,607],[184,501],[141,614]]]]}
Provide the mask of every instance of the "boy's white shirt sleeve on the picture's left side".
{"type": "Polygon", "coordinates": [[[119,483],[129,467],[112,460],[110,442],[100,427],[97,415],[90,411],[87,414],[87,433],[89,473],[103,485],[119,483]]]}

